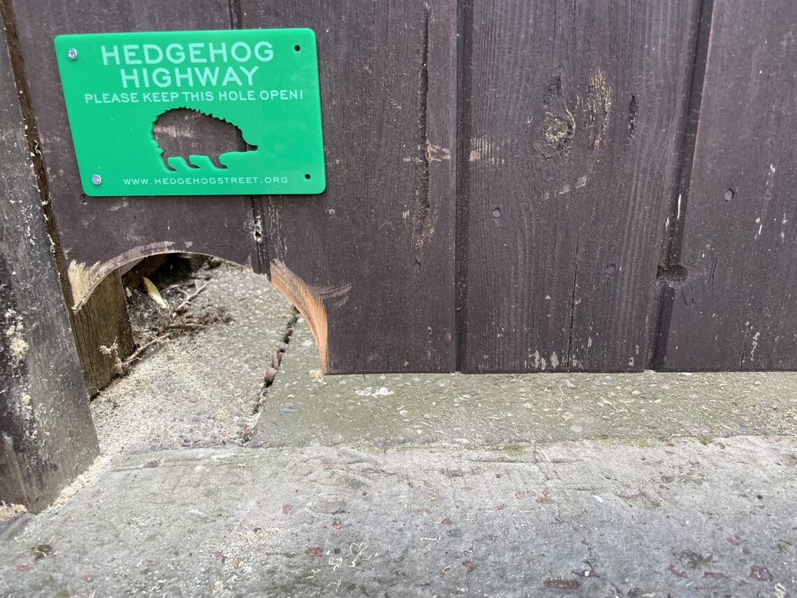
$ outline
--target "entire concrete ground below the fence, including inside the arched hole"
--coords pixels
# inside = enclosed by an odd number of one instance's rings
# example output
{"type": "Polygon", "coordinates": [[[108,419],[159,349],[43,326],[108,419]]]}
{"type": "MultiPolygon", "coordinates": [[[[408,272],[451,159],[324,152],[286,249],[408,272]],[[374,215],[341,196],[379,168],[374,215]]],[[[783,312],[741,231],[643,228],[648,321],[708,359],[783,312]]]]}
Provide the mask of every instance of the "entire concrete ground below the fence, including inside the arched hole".
{"type": "Polygon", "coordinates": [[[797,375],[317,380],[299,321],[238,447],[294,312],[212,277],[92,469],[0,506],[0,596],[797,595],[797,375]]]}

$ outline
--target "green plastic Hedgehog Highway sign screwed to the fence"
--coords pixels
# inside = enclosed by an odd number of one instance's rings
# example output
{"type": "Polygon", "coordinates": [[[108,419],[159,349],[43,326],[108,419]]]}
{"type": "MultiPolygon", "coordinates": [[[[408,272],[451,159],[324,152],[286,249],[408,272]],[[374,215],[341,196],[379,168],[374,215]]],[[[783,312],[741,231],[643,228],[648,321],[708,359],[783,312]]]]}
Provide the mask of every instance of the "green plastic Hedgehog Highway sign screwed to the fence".
{"type": "Polygon", "coordinates": [[[312,30],[59,35],[55,50],[86,195],[324,191],[312,30]],[[159,126],[175,122],[190,131],[159,126]]]}

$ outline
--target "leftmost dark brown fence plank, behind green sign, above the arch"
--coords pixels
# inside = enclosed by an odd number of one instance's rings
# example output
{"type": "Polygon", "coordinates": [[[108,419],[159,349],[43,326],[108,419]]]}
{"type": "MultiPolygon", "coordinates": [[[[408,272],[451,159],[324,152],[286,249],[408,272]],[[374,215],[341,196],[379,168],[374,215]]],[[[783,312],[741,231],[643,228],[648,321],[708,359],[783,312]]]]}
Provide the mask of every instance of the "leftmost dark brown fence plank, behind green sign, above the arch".
{"type": "Polygon", "coordinates": [[[82,305],[117,267],[151,254],[212,254],[263,271],[249,198],[82,195],[53,49],[53,37],[61,33],[228,29],[228,2],[202,2],[200,7],[133,0],[13,0],[13,6],[74,304],[82,305]]]}

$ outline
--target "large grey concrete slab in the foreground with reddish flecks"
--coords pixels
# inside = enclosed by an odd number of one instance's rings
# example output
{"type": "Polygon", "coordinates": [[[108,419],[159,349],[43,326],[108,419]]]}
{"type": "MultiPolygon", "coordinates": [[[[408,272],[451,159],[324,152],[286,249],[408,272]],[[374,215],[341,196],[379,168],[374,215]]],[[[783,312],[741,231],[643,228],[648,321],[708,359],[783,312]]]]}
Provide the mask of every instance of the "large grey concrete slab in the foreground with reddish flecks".
{"type": "Polygon", "coordinates": [[[0,540],[2,596],[794,596],[797,443],[196,449],[0,540]]]}

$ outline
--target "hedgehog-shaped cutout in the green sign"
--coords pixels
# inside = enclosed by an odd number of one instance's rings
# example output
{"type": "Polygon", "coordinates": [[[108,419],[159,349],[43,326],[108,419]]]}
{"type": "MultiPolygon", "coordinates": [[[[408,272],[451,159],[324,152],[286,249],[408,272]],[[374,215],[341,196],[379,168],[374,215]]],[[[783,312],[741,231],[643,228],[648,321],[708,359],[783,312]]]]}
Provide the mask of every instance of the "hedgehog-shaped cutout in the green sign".
{"type": "Polygon", "coordinates": [[[224,169],[219,156],[255,151],[237,125],[194,108],[170,108],[152,124],[152,139],[157,144],[167,170],[176,171],[175,162],[186,167],[211,166],[224,169]],[[171,163],[170,163],[171,162],[171,163]]]}

